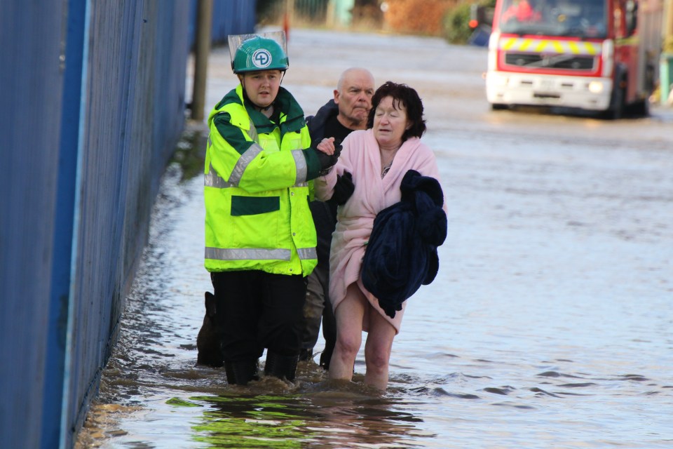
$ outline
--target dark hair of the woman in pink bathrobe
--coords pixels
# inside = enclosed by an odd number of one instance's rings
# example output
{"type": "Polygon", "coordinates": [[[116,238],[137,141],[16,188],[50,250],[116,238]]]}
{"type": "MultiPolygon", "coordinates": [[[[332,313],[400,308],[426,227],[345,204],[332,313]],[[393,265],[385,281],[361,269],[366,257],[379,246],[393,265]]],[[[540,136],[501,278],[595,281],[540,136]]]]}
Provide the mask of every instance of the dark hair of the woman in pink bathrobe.
{"type": "Polygon", "coordinates": [[[392,97],[393,105],[401,103],[407,109],[407,119],[412,124],[408,130],[402,134],[402,142],[408,138],[420,138],[426,132],[426,121],[423,120],[423,102],[419,93],[414,88],[406,84],[397,84],[393,81],[386,81],[381,87],[376,89],[372,97],[372,109],[367,116],[367,128],[374,126],[374,115],[376,108],[383,98],[392,97]]]}

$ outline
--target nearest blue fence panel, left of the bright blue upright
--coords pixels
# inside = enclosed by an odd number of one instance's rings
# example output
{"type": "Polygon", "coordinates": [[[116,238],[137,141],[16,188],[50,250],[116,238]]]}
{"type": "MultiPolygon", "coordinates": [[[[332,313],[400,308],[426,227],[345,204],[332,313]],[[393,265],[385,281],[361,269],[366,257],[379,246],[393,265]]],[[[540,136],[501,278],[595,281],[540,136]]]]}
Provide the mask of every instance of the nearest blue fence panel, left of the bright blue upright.
{"type": "Polygon", "coordinates": [[[63,4],[36,3],[0,0],[0,436],[7,448],[39,446],[46,375],[63,4]]]}

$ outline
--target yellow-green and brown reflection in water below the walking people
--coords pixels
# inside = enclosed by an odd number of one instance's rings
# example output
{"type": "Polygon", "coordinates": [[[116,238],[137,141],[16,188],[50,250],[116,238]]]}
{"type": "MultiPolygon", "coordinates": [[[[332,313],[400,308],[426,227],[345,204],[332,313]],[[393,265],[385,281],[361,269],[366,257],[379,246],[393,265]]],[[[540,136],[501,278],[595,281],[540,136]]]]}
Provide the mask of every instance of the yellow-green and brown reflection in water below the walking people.
{"type": "MultiPolygon", "coordinates": [[[[272,389],[279,381],[255,382],[272,389]]],[[[293,394],[191,396],[174,406],[208,406],[192,429],[195,441],[213,448],[413,448],[421,420],[393,410],[394,401],[355,391],[304,384],[293,394]]],[[[239,390],[239,391],[236,391],[239,390]]]]}

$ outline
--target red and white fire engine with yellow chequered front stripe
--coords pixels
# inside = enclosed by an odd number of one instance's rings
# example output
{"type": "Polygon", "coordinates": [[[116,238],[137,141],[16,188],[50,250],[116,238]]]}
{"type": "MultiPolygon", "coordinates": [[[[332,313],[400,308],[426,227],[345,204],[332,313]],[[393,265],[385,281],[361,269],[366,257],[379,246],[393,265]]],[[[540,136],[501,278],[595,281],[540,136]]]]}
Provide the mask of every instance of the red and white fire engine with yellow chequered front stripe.
{"type": "Polygon", "coordinates": [[[663,0],[498,0],[486,74],[491,107],[647,114],[662,8],[663,0]]]}

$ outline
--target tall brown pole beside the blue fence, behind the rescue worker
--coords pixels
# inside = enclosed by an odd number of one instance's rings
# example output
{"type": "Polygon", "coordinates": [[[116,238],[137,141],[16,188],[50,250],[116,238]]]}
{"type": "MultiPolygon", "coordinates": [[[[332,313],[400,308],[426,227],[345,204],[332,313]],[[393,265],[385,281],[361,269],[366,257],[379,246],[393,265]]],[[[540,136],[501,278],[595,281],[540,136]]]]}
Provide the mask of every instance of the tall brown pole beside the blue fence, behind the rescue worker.
{"type": "Polygon", "coordinates": [[[191,95],[191,119],[203,121],[205,79],[212,30],[212,0],[198,0],[196,6],[196,43],[194,48],[194,83],[191,95]]]}

